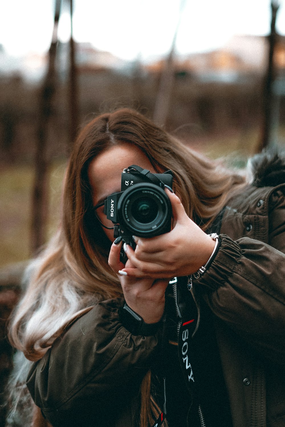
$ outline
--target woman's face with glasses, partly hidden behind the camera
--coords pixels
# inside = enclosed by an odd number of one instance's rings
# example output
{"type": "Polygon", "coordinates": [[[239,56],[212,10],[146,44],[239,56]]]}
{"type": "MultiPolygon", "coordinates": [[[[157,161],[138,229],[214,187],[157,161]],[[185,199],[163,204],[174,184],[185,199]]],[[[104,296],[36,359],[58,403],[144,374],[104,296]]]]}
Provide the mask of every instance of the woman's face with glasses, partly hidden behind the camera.
{"type": "MultiPolygon", "coordinates": [[[[88,168],[88,179],[94,206],[103,202],[110,194],[121,190],[121,173],[131,164],[156,173],[147,156],[138,147],[129,143],[109,148],[91,161],[88,168]]],[[[105,224],[106,215],[104,215],[103,208],[97,209],[97,216],[105,224]]],[[[109,240],[114,242],[114,230],[107,230],[104,227],[102,229],[109,240]]]]}

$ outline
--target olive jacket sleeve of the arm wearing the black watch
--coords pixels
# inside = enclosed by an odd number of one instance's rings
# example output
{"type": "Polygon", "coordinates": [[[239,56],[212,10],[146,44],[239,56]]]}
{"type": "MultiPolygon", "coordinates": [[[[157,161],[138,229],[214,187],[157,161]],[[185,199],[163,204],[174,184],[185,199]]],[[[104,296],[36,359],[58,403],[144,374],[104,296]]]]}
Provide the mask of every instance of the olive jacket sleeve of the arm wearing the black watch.
{"type": "Polygon", "coordinates": [[[121,298],[97,304],[32,366],[29,392],[54,427],[115,425],[138,397],[158,337],[126,330],[121,305],[121,298]]]}

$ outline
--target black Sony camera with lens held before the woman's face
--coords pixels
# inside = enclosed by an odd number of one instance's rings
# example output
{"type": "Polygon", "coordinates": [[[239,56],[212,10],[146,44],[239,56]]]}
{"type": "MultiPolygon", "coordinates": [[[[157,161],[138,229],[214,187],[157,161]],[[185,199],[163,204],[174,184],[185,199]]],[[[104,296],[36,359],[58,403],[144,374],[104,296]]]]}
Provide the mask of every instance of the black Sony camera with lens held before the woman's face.
{"type": "MultiPolygon", "coordinates": [[[[121,191],[107,197],[104,213],[114,224],[114,237],[135,249],[132,236],[154,237],[171,230],[172,208],[164,188],[172,190],[173,173],[151,173],[137,165],[121,174],[121,191]]],[[[126,262],[121,251],[121,261],[126,262]]]]}

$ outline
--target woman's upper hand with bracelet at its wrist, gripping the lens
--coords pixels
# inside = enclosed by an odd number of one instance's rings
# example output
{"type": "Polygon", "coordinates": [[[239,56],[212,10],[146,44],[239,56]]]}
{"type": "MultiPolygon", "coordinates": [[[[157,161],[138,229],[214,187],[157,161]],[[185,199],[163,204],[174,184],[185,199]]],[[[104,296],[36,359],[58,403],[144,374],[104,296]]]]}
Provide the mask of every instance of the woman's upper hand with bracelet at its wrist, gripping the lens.
{"type": "Polygon", "coordinates": [[[169,233],[150,239],[135,237],[135,251],[125,245],[132,266],[126,263],[122,271],[128,278],[191,275],[212,255],[214,240],[187,216],[179,198],[166,191],[172,205],[173,228],[169,233]]]}

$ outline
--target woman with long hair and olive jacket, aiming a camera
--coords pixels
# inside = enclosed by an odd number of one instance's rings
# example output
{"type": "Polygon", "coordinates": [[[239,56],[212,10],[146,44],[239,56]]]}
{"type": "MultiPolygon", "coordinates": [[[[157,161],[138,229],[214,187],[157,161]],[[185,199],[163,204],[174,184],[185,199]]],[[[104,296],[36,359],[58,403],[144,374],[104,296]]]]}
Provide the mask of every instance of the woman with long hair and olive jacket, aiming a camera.
{"type": "Polygon", "coordinates": [[[10,329],[35,362],[38,417],[54,427],[283,425],[284,164],[259,156],[246,178],[128,109],[85,126],[62,225],[10,329]],[[176,194],[165,190],[171,231],[134,236],[124,265],[102,202],[133,164],[171,170],[176,194]]]}

